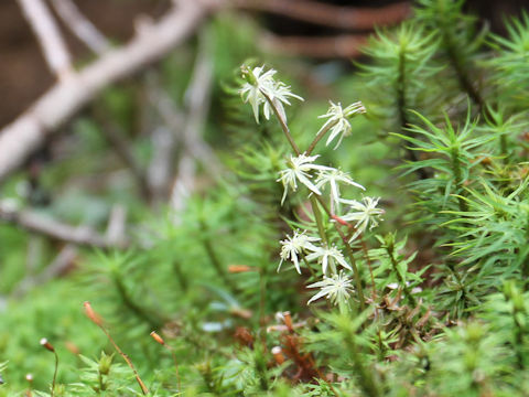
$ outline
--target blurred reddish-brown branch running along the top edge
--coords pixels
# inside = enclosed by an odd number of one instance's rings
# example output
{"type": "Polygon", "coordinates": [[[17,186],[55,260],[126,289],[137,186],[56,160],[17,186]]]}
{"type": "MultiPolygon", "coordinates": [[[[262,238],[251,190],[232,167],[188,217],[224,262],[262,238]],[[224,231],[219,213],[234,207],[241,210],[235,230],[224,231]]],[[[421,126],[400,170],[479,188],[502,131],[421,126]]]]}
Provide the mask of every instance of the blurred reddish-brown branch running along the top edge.
{"type": "Polygon", "coordinates": [[[395,24],[411,12],[408,2],[380,8],[338,7],[311,0],[231,0],[230,4],[345,30],[370,30],[376,25],[395,24]]]}

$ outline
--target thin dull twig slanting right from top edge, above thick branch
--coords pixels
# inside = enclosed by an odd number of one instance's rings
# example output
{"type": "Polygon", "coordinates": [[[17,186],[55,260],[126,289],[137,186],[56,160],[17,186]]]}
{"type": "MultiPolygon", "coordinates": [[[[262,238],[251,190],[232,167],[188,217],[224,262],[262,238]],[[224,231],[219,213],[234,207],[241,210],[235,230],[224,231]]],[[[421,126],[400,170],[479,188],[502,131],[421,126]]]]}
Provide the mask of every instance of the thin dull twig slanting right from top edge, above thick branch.
{"type": "Polygon", "coordinates": [[[96,54],[110,50],[105,35],[79,11],[72,0],[52,0],[52,4],[64,24],[96,54]]]}

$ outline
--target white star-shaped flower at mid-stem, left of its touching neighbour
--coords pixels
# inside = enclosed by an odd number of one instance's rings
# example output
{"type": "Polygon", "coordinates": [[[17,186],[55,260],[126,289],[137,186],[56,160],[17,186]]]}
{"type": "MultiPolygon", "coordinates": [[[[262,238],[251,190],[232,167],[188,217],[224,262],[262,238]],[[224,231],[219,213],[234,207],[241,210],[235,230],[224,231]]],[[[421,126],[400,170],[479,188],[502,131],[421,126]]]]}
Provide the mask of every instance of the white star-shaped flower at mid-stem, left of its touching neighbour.
{"type": "Polygon", "coordinates": [[[309,190],[314,192],[317,195],[321,195],[320,189],[316,187],[314,183],[312,183],[310,174],[311,171],[324,171],[324,170],[332,170],[330,167],[314,164],[314,160],[316,160],[320,155],[305,155],[304,153],[298,157],[290,157],[288,162],[289,168],[287,170],[281,170],[279,172],[279,179],[277,182],[281,182],[284,187],[283,197],[281,198],[281,205],[284,203],[284,198],[287,198],[287,193],[289,189],[292,192],[298,190],[298,181],[304,184],[309,190]]]}

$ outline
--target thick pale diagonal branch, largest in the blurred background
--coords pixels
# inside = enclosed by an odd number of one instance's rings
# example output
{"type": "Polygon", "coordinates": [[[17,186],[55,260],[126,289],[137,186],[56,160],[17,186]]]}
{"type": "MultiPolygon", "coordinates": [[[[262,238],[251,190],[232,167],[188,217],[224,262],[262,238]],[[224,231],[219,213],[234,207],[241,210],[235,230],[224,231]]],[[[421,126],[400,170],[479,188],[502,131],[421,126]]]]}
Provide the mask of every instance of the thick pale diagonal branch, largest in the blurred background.
{"type": "MultiPolygon", "coordinates": [[[[35,0],[19,0],[35,1],[35,0]]],[[[106,53],[71,78],[60,81],[17,120],[0,130],[0,180],[23,164],[52,133],[110,84],[158,61],[187,39],[205,19],[208,2],[179,1],[131,42],[106,53]]]]}

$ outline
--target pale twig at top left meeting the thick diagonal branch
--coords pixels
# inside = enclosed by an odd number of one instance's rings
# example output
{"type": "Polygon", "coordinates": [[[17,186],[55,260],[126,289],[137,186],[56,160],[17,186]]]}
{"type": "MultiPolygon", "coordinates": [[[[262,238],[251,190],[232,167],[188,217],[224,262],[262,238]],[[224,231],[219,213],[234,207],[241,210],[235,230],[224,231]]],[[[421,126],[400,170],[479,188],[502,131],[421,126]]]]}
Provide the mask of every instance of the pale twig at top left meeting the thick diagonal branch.
{"type": "Polygon", "coordinates": [[[72,61],[52,13],[43,0],[18,0],[25,19],[39,39],[52,72],[64,78],[72,74],[72,61]]]}

